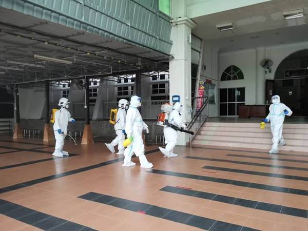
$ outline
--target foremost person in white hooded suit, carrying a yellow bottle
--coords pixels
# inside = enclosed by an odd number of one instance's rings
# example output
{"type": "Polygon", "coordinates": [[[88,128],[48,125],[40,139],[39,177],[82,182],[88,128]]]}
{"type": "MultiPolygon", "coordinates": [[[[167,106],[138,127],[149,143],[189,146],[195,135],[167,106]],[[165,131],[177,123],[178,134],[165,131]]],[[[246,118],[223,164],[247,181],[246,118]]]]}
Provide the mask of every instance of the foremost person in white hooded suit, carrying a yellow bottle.
{"type": "Polygon", "coordinates": [[[130,145],[124,151],[124,163],[122,166],[134,166],[136,163],[131,161],[131,157],[135,154],[139,157],[140,167],[151,168],[152,163],[148,162],[144,155],[144,144],[142,139],[142,131],[145,130],[149,133],[148,126],[143,122],[138,107],[141,106],[141,98],[133,95],[130,98],[129,108],[126,114],[125,131],[127,138],[133,138],[130,145]]]}

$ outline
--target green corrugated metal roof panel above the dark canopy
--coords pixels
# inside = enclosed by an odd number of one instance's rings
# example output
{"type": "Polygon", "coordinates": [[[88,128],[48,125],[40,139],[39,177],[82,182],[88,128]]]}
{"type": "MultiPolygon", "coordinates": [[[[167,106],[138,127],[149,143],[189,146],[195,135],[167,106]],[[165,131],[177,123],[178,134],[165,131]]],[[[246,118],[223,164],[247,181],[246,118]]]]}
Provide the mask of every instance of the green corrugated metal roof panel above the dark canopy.
{"type": "Polygon", "coordinates": [[[0,0],[0,7],[169,54],[170,18],[158,0],[0,0]]]}

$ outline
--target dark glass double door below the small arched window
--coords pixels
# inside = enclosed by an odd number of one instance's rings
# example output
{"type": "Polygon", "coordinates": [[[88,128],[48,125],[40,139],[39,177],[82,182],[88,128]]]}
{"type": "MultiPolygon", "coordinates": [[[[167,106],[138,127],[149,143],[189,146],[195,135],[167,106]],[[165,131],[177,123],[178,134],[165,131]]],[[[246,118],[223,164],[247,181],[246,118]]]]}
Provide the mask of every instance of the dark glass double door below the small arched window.
{"type": "Polygon", "coordinates": [[[238,116],[239,106],[245,104],[245,88],[219,89],[219,115],[221,117],[238,116]]]}

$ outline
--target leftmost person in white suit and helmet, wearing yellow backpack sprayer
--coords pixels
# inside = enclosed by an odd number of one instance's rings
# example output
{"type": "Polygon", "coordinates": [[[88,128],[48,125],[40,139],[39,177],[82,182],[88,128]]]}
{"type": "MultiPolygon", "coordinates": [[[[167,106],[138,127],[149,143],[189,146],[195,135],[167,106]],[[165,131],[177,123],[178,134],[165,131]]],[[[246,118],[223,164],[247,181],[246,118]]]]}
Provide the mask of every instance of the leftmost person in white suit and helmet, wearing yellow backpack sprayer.
{"type": "Polygon", "coordinates": [[[52,156],[63,157],[68,156],[67,151],[63,151],[64,140],[67,134],[67,125],[68,122],[75,123],[75,120],[71,118],[71,115],[68,111],[68,99],[61,98],[59,101],[59,110],[55,112],[54,116],[54,137],[55,137],[55,148],[52,156]]]}

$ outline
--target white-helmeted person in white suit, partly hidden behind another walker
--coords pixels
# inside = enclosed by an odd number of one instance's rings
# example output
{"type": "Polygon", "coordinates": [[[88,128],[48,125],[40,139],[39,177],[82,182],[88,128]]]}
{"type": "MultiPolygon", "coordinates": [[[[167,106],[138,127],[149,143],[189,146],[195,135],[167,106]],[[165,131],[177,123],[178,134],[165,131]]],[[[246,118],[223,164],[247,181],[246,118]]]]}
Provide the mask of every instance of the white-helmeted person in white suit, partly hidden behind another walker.
{"type": "Polygon", "coordinates": [[[110,143],[106,144],[107,148],[114,153],[114,147],[118,145],[118,155],[124,154],[124,146],[123,142],[125,140],[125,120],[126,120],[126,107],[127,107],[128,101],[125,99],[121,99],[119,101],[119,109],[117,112],[117,121],[115,121],[114,124],[114,130],[117,134],[117,137],[110,143]]]}

